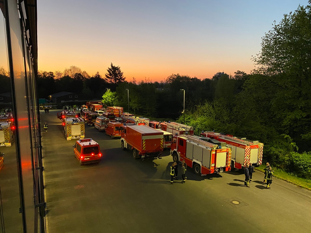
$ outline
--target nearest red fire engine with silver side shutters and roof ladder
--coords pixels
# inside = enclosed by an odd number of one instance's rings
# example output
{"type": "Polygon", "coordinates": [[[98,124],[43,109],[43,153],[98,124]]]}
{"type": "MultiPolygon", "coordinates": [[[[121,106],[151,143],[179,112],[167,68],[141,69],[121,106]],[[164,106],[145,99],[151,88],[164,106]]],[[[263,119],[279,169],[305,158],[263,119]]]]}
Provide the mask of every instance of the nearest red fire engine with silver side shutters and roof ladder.
{"type": "Polygon", "coordinates": [[[174,136],[171,146],[174,162],[185,160],[197,175],[207,175],[230,170],[231,149],[221,147],[193,136],[174,136]]]}

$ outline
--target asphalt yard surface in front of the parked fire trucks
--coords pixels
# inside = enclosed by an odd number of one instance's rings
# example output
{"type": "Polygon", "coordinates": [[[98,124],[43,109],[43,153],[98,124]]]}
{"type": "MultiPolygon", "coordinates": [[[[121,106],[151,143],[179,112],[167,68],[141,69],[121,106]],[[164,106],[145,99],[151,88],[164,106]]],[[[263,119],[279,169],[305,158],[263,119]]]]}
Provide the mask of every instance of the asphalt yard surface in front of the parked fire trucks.
{"type": "MultiPolygon", "coordinates": [[[[274,179],[271,190],[253,173],[196,176],[171,185],[172,157],[134,160],[119,139],[86,125],[102,161],[80,166],[56,111],[41,115],[48,228],[60,232],[311,232],[311,192],[274,179]],[[231,201],[239,201],[234,205],[231,201]]],[[[180,172],[180,171],[179,171],[180,172]]],[[[179,173],[181,176],[181,173],[179,173]]]]}

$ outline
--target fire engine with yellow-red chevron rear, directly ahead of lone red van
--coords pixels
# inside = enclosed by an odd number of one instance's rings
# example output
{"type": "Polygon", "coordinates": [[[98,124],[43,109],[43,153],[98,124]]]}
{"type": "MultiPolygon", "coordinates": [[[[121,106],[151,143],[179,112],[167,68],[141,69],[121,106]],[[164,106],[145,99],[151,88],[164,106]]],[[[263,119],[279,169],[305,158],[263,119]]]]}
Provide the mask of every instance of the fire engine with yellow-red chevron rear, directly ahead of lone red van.
{"type": "Polygon", "coordinates": [[[67,140],[71,140],[73,138],[84,138],[84,120],[81,117],[67,117],[65,118],[64,130],[67,140]]]}

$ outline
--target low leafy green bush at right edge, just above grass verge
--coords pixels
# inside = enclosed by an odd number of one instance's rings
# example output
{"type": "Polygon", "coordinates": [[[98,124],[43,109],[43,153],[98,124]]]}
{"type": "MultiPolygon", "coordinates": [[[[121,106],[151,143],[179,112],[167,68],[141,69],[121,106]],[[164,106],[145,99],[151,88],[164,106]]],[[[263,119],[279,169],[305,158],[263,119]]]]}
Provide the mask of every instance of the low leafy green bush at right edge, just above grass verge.
{"type": "Polygon", "coordinates": [[[291,153],[291,168],[299,177],[311,179],[311,152],[291,153]]]}

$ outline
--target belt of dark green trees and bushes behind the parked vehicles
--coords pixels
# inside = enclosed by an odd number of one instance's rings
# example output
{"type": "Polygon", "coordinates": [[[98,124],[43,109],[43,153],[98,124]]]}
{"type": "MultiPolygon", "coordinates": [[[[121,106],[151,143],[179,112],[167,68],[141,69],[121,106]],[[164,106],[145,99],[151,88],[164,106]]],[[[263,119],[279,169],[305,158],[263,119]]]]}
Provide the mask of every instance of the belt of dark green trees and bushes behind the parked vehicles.
{"type": "MultiPolygon", "coordinates": [[[[259,140],[264,143],[264,162],[310,179],[310,2],[284,15],[279,24],[274,23],[253,61],[256,68],[251,74],[217,73],[203,80],[172,74],[166,83],[149,79],[137,83],[134,77],[131,82],[107,82],[98,72],[90,77],[71,66],[63,73],[39,72],[38,95],[46,98],[60,91],[81,93],[85,99],[104,98],[106,104],[122,106],[124,111],[152,120],[177,118],[193,126],[196,135],[215,130],[259,140]],[[185,122],[180,89],[185,90],[185,122]],[[107,93],[113,93],[113,101],[107,100],[107,93]]],[[[112,64],[107,71],[113,68],[123,76],[112,64]]]]}

